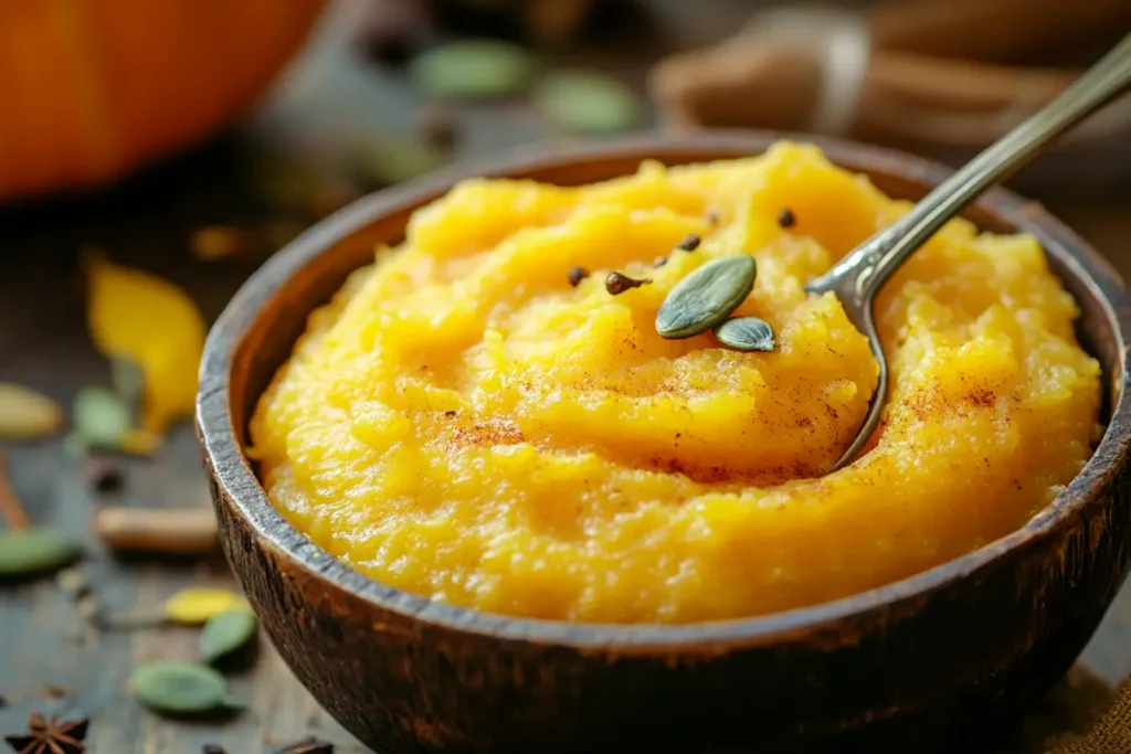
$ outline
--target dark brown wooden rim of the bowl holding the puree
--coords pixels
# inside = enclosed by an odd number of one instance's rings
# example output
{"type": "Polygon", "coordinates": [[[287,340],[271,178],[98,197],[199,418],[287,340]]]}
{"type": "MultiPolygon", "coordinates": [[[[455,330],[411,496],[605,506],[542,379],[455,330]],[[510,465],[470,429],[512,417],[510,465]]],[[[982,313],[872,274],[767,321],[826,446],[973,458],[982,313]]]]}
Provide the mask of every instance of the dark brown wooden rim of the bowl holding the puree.
{"type": "MultiPolygon", "coordinates": [[[[718,154],[758,154],[775,139],[788,138],[820,146],[835,163],[903,175],[935,184],[950,170],[903,153],[849,144],[835,139],[759,132],[708,132],[689,137],[633,136],[587,146],[547,146],[519,150],[493,161],[467,162],[412,183],[364,197],[317,224],[267,261],[236,293],[208,336],[200,369],[197,422],[201,444],[216,470],[216,483],[262,541],[305,570],[333,582],[359,598],[400,613],[425,624],[501,639],[562,644],[575,648],[618,647],[622,650],[654,651],[665,647],[702,645],[705,642],[744,645],[776,643],[798,634],[841,634],[843,622],[863,618],[877,610],[912,606],[920,598],[946,589],[959,580],[977,578],[978,571],[1007,552],[1034,546],[1054,536],[1071,517],[1094,501],[1124,463],[1131,444],[1131,407],[1128,405],[1128,343],[1131,343],[1131,307],[1119,276],[1090,246],[1043,208],[1026,202],[1010,191],[993,189],[978,203],[1015,227],[1036,234],[1071,276],[1103,305],[1117,338],[1117,398],[1113,401],[1107,431],[1083,471],[1053,503],[1025,527],[957,560],[901,581],[835,601],[752,618],[684,625],[604,625],[516,618],[455,607],[395,589],[354,571],[330,556],[294,529],[267,499],[243,453],[240,433],[231,416],[230,372],[235,349],[254,322],[264,304],[283,284],[333,246],[391,210],[415,206],[421,199],[442,193],[454,181],[467,176],[525,174],[547,165],[601,163],[608,158],[633,159],[718,154]]],[[[1114,378],[1113,378],[1114,379],[1114,378]]],[[[241,419],[242,421],[242,419],[241,419]]]]}

